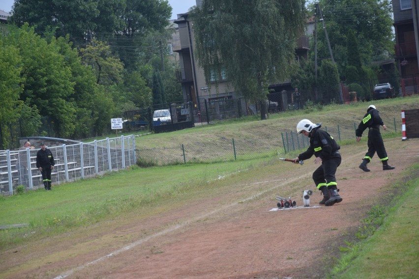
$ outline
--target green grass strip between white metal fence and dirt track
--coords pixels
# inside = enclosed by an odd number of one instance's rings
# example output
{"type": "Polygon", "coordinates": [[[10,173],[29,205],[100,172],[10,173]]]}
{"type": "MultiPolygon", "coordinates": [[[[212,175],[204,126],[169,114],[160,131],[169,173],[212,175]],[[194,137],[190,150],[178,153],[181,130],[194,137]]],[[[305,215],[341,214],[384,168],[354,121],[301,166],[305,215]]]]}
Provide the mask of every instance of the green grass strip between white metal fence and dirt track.
{"type": "MultiPolygon", "coordinates": [[[[266,160],[266,159],[265,159],[266,160]]],[[[93,179],[79,180],[22,195],[0,196],[0,225],[29,226],[0,230],[0,247],[78,228],[87,224],[141,214],[206,190],[216,180],[261,164],[263,160],[168,167],[131,167],[93,179]],[[147,209],[147,210],[144,210],[147,209]]]]}

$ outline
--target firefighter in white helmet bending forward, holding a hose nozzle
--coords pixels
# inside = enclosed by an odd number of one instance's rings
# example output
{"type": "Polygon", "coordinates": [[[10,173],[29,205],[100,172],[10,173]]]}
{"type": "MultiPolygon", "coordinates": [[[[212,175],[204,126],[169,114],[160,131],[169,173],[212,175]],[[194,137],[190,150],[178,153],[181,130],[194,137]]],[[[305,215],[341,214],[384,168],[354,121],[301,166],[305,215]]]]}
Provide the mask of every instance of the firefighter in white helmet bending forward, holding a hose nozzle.
{"type": "Polygon", "coordinates": [[[316,157],[314,164],[321,163],[313,172],[313,180],[317,189],[322,191],[323,200],[320,204],[331,206],[337,202],[342,201],[342,197],[337,193],[336,183],[336,169],[339,167],[342,157],[340,156],[340,146],[336,141],[326,132],[320,129],[322,123],[314,124],[308,119],[302,119],[297,124],[297,134],[303,134],[310,138],[310,146],[307,151],[299,154],[294,159],[294,163],[299,160],[307,160],[311,156],[316,157]]]}

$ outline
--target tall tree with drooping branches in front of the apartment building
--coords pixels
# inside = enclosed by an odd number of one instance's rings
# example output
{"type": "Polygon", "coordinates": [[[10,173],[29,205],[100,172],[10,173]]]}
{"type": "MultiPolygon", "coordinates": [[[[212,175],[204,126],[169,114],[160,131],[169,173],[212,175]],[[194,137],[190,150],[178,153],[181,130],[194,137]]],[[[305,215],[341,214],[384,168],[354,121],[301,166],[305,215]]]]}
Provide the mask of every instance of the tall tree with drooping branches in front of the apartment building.
{"type": "Polygon", "coordinates": [[[264,104],[268,84],[288,78],[295,63],[297,38],[305,24],[304,2],[205,0],[196,6],[191,11],[193,30],[207,84],[211,73],[220,80],[223,71],[237,92],[264,104]]]}

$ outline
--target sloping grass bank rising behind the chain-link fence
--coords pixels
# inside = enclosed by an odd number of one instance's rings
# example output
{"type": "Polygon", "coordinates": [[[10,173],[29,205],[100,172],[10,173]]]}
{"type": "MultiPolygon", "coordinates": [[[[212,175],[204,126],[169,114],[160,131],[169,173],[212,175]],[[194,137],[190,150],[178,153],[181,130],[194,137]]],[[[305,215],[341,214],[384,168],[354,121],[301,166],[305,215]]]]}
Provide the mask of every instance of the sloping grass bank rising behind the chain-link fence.
{"type": "MultiPolygon", "coordinates": [[[[380,111],[388,128],[382,134],[388,137],[387,134],[390,133],[401,133],[401,110],[416,109],[419,95],[376,100],[372,103],[380,111]]],[[[355,139],[354,123],[358,127],[368,105],[370,103],[364,102],[350,105],[332,104],[313,111],[298,110],[269,114],[267,120],[260,120],[260,116],[246,116],[209,125],[196,124],[192,129],[136,137],[136,146],[137,149],[181,148],[184,144],[186,148],[190,144],[211,144],[213,148],[217,148],[217,145],[224,144],[226,140],[230,142],[232,139],[237,141],[251,139],[255,142],[279,141],[282,145],[281,132],[296,131],[296,125],[302,118],[308,118],[316,123],[322,122],[323,127],[328,127],[335,138],[337,138],[337,125],[339,125],[341,140],[352,140],[355,139]]],[[[128,133],[125,134],[128,135],[128,133]]]]}

